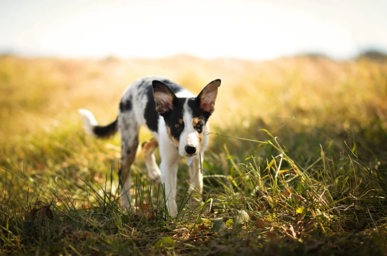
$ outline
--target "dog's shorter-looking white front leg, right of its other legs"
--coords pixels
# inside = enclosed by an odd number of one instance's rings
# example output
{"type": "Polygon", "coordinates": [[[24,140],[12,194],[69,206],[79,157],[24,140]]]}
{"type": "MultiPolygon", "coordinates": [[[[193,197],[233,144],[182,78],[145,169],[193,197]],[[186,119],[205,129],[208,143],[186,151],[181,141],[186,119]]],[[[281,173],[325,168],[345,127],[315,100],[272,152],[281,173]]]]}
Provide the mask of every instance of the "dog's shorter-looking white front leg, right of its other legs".
{"type": "MultiPolygon", "coordinates": [[[[202,154],[203,162],[203,154],[202,154]]],[[[190,185],[188,192],[191,194],[189,203],[196,205],[202,201],[203,192],[203,174],[200,170],[200,158],[196,156],[192,159],[192,163],[189,165],[189,178],[190,185]]]]}

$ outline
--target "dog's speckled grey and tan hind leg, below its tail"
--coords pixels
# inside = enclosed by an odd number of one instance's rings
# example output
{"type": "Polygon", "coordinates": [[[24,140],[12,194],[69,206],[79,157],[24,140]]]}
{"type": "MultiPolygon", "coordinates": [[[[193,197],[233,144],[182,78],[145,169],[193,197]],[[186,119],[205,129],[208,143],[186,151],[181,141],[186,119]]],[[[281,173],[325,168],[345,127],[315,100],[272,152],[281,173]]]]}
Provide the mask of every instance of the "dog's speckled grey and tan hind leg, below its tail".
{"type": "Polygon", "coordinates": [[[118,173],[121,188],[121,207],[130,205],[132,195],[130,192],[130,167],[136,158],[139,146],[140,129],[131,115],[124,113],[118,116],[118,129],[121,133],[121,167],[118,173]]]}

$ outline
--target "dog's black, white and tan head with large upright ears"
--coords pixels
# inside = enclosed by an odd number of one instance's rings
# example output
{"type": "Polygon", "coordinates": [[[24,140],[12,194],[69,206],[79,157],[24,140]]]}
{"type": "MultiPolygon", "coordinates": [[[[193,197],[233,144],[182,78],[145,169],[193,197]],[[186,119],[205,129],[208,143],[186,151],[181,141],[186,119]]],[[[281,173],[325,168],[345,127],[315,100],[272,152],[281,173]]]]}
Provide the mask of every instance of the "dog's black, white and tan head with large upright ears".
{"type": "Polygon", "coordinates": [[[209,83],[197,97],[180,98],[160,81],[153,81],[156,111],[164,118],[171,141],[179,155],[191,158],[207,146],[207,121],[215,110],[220,79],[209,83]]]}

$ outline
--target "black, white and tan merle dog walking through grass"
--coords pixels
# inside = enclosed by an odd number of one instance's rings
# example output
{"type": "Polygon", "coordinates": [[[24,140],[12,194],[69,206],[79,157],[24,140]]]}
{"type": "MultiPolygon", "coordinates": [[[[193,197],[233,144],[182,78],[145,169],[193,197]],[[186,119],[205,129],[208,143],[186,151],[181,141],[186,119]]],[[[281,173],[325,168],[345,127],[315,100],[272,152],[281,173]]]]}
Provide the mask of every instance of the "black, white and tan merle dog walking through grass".
{"type": "Polygon", "coordinates": [[[121,134],[121,164],[119,183],[121,206],[131,202],[130,166],[139,146],[139,131],[146,126],[153,138],[142,144],[142,152],[149,178],[165,186],[166,203],[171,216],[177,215],[177,162],[187,158],[190,186],[188,191],[201,197],[203,175],[200,161],[208,146],[208,120],[215,110],[220,79],[209,83],[194,96],[182,86],[158,76],[136,80],[129,86],[119,103],[118,117],[107,126],[99,126],[94,115],[79,109],[86,133],[107,137],[117,130],[121,134]],[[157,166],[154,151],[159,147],[161,163],[157,166]]]}

